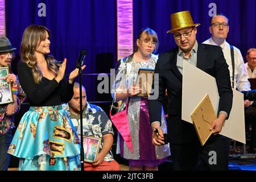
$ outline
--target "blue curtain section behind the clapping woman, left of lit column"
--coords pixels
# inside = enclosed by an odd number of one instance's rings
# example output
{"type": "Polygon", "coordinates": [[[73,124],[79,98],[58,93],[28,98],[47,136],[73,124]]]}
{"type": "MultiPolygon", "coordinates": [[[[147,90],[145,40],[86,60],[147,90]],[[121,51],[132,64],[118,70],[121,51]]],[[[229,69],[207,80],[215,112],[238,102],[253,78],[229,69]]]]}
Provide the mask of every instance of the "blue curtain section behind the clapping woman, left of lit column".
{"type": "MultiPolygon", "coordinates": [[[[24,29],[42,24],[51,31],[51,54],[56,60],[67,57],[66,73],[75,69],[80,50],[86,49],[83,73],[109,73],[114,65],[114,0],[7,0],[6,32],[19,53],[24,29]],[[39,3],[46,4],[46,17],[39,17],[39,3]]],[[[83,76],[88,99],[96,100],[97,75],[83,76]]]]}

